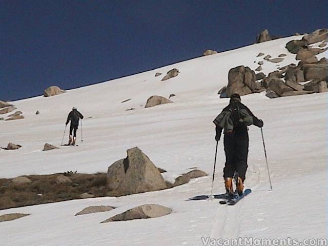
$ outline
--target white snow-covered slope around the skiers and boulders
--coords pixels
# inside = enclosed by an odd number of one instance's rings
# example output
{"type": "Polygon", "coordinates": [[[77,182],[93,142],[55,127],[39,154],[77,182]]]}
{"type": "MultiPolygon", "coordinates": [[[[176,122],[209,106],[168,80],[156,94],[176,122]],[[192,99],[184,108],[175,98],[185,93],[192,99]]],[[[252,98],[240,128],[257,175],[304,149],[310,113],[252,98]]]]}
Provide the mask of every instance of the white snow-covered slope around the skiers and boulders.
{"type": "MultiPolygon", "coordinates": [[[[250,128],[246,188],[253,193],[233,207],[218,201],[188,200],[211,189],[215,116],[228,104],[217,91],[228,84],[231,68],[255,69],[259,52],[288,56],[279,64],[264,61],[268,74],[277,66],[297,63],[284,47],[293,36],[199,57],[106,83],[69,90],[53,97],[15,101],[25,119],[0,122],[0,145],[22,145],[0,151],[0,177],[49,174],[67,170],[106,172],[126,150],[138,146],[172,179],[189,168],[208,177],[169,190],[126,197],[92,198],[0,211],[30,216],[0,223],[1,245],[203,245],[211,238],[326,238],[327,93],[269,99],[265,93],[242,97],[242,103],[264,121],[264,137],[272,173],[269,191],[260,130],[250,128]],[[255,63],[254,63],[255,61],[255,63]],[[172,68],[180,74],[160,79],[172,68]],[[155,77],[155,73],[162,73],[155,77]],[[173,104],[145,109],[148,97],[161,95],[173,104]],[[125,99],[131,100],[121,103],[125,99]],[[67,114],[75,106],[84,114],[83,142],[43,152],[46,142],[59,146],[67,114]],[[132,111],[126,109],[135,108],[132,111]],[[39,115],[35,115],[36,111],[39,115]],[[92,118],[89,118],[92,117],[92,118]],[[315,202],[314,202],[315,201],[315,202]],[[139,204],[158,203],[171,215],[99,224],[139,204]],[[117,207],[109,212],[74,217],[92,205],[117,207]]],[[[327,57],[328,52],[317,55],[327,57]]],[[[80,130],[78,134],[80,134],[80,130]]],[[[67,135],[67,132],[66,132],[67,135]]],[[[65,141],[67,141],[67,136],[65,141]]],[[[219,142],[215,193],[223,192],[223,143],[219,142]]]]}

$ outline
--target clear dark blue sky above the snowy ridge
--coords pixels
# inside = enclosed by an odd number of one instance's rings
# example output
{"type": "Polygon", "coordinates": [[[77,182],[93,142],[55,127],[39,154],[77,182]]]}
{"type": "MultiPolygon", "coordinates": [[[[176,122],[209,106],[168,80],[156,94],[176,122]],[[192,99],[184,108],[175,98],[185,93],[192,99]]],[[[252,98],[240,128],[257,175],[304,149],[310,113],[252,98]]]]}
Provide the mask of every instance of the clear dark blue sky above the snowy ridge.
{"type": "Polygon", "coordinates": [[[327,28],[328,1],[3,1],[0,99],[70,89],[327,28]]]}

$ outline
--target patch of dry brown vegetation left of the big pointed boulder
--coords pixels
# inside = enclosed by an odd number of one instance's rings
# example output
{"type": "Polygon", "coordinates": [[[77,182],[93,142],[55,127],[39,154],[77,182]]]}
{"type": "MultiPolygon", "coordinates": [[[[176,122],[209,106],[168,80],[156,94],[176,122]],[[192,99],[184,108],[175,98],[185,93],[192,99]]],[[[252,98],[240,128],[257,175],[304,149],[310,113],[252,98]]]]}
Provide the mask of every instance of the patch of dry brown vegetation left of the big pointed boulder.
{"type": "Polygon", "coordinates": [[[56,177],[63,173],[25,176],[32,182],[22,185],[14,184],[11,179],[0,179],[0,210],[78,199],[86,192],[95,197],[106,196],[106,173],[64,174],[72,180],[71,183],[56,183],[56,177]]]}

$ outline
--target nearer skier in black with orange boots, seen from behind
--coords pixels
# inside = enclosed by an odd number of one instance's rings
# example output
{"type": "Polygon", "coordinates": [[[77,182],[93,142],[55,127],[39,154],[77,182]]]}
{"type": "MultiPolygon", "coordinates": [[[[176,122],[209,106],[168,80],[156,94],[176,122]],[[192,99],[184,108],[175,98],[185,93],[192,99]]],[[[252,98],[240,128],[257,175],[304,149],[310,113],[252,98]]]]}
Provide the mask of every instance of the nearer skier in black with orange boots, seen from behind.
{"type": "Polygon", "coordinates": [[[226,164],[223,169],[224,186],[228,194],[233,191],[233,178],[236,178],[236,190],[239,195],[243,192],[243,182],[248,168],[247,156],[249,147],[248,127],[255,125],[263,127],[263,121],[243,104],[238,94],[233,94],[229,105],[214,119],[216,126],[215,140],[219,141],[224,129],[224,152],[226,164]],[[236,176],[235,176],[236,175],[236,176]]]}

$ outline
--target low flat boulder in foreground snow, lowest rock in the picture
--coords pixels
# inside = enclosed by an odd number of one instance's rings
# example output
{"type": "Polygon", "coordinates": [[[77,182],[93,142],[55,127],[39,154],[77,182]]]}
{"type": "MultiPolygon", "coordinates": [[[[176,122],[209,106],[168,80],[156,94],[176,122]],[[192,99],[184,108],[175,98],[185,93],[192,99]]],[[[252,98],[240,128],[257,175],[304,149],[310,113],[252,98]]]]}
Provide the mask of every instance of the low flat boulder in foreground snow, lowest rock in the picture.
{"type": "Polygon", "coordinates": [[[130,209],[124,213],[117,214],[109,219],[104,220],[101,223],[112,222],[112,221],[124,221],[133,219],[149,219],[157,218],[171,214],[172,209],[158,204],[145,204],[133,209],[130,209]]]}

